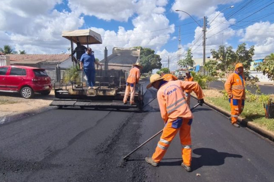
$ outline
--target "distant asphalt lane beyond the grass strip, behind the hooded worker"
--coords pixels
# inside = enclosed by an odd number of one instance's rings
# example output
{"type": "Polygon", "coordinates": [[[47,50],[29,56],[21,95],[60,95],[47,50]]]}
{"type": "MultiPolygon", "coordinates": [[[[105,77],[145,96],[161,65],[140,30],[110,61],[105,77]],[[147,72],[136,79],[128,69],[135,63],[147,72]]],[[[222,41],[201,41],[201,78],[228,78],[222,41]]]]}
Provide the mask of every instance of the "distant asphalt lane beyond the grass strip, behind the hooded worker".
{"type": "MultiPolygon", "coordinates": [[[[224,89],[224,83],[221,81],[213,81],[209,83],[209,88],[215,88],[219,90],[224,89]]],[[[267,85],[259,85],[259,88],[261,89],[262,94],[274,94],[274,86],[267,86],[267,85]]],[[[251,90],[252,93],[256,92],[255,88],[251,88],[250,86],[247,86],[248,90],[251,90]]]]}

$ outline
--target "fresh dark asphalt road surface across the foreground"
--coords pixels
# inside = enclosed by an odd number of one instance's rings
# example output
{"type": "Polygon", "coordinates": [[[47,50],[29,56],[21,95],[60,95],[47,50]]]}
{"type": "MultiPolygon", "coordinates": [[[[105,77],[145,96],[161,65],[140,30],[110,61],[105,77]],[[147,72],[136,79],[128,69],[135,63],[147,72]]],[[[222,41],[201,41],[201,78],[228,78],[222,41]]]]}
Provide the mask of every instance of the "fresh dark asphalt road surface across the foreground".
{"type": "MultiPolygon", "coordinates": [[[[155,96],[156,90],[147,90],[146,103],[155,96]]],[[[153,154],[160,135],[121,163],[164,126],[157,100],[144,109],[54,109],[4,123],[0,181],[274,181],[273,143],[247,128],[233,127],[206,106],[193,110],[193,172],[180,166],[178,136],[159,167],[146,164],[144,157],[153,154]]]]}

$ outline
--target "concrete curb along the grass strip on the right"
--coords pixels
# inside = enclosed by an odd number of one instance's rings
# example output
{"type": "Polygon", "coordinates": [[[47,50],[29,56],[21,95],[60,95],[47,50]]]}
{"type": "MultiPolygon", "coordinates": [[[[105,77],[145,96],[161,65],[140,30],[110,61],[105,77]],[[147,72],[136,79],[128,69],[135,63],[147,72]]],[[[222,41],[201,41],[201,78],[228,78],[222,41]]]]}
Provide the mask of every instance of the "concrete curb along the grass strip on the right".
{"type": "MultiPolygon", "coordinates": [[[[197,100],[197,98],[196,98],[195,96],[191,95],[191,97],[197,100]]],[[[213,105],[213,104],[210,104],[210,103],[207,103],[207,102],[205,102],[204,104],[205,104],[207,107],[209,107],[209,108],[211,108],[211,109],[217,111],[218,113],[220,113],[220,114],[222,114],[222,115],[225,115],[225,116],[227,116],[227,117],[230,117],[230,115],[231,115],[229,112],[227,112],[227,111],[225,111],[224,109],[221,109],[220,107],[217,107],[217,106],[215,106],[215,105],[213,105]]],[[[273,133],[271,133],[271,132],[269,132],[269,131],[263,129],[263,128],[260,127],[260,126],[257,126],[257,125],[254,124],[252,121],[247,121],[247,119],[238,116],[238,122],[239,122],[241,125],[243,125],[243,126],[249,128],[249,129],[255,131],[256,133],[260,134],[261,136],[263,136],[263,137],[265,137],[265,138],[268,138],[269,140],[271,140],[271,141],[274,142],[274,134],[273,134],[273,133]]]]}

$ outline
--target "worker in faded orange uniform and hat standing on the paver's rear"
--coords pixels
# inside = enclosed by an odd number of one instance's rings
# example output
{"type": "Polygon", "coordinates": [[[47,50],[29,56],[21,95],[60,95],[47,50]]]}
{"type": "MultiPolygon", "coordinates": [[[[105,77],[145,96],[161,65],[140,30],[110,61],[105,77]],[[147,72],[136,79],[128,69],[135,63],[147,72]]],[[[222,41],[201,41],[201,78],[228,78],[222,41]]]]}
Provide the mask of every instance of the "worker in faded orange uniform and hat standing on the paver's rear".
{"type": "Polygon", "coordinates": [[[133,66],[134,67],[130,69],[128,78],[126,80],[126,91],[124,95],[124,104],[126,104],[128,95],[130,93],[130,105],[134,104],[135,86],[138,84],[140,79],[140,69],[143,68],[140,63],[133,64],[133,66]]]}

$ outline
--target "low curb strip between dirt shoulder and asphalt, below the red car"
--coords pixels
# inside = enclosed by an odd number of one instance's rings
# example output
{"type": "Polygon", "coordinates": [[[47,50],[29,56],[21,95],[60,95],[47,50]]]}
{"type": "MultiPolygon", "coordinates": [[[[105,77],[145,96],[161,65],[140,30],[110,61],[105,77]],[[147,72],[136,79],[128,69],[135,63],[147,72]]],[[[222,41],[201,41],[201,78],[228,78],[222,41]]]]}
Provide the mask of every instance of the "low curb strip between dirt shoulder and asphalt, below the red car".
{"type": "Polygon", "coordinates": [[[35,114],[38,114],[38,113],[41,113],[44,111],[48,111],[51,109],[55,109],[55,108],[57,108],[57,106],[44,106],[44,107],[40,107],[38,109],[31,109],[31,110],[27,110],[27,111],[24,111],[21,113],[15,113],[15,114],[9,114],[6,116],[2,116],[2,117],[0,117],[0,125],[9,123],[11,121],[15,121],[19,118],[24,119],[26,117],[29,117],[29,116],[32,116],[32,115],[35,115],[35,114]]]}

